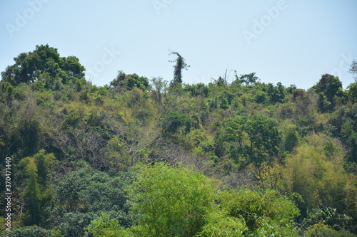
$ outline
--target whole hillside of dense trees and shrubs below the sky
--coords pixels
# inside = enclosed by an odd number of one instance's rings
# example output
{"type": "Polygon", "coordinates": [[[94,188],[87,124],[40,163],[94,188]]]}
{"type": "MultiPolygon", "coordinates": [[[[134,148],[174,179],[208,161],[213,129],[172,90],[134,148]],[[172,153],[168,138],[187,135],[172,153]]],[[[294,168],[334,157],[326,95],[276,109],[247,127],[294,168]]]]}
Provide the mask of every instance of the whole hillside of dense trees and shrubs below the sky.
{"type": "Polygon", "coordinates": [[[13,236],[357,233],[357,81],[189,85],[171,54],[170,83],[120,70],[102,87],[48,45],[14,58],[0,81],[13,236]]]}

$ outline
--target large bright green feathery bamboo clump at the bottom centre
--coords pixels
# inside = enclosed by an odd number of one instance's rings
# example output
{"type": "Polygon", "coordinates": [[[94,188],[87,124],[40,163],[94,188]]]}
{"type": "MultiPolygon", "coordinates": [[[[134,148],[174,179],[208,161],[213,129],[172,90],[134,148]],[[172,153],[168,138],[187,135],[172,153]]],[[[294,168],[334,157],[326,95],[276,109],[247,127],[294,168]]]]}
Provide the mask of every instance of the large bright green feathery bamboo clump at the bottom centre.
{"type": "Polygon", "coordinates": [[[211,181],[192,169],[162,163],[140,167],[129,190],[136,228],[146,236],[195,236],[213,208],[212,189],[211,181]]]}

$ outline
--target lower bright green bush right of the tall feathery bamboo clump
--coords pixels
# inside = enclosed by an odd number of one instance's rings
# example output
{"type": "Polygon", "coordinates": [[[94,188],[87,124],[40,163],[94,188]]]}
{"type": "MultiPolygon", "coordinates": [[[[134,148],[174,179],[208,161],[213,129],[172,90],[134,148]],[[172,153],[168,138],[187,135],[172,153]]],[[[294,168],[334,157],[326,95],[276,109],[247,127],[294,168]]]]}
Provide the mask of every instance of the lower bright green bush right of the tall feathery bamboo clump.
{"type": "Polygon", "coordinates": [[[298,208],[278,191],[223,191],[219,201],[228,216],[244,221],[244,236],[298,236],[293,230],[298,208]]]}

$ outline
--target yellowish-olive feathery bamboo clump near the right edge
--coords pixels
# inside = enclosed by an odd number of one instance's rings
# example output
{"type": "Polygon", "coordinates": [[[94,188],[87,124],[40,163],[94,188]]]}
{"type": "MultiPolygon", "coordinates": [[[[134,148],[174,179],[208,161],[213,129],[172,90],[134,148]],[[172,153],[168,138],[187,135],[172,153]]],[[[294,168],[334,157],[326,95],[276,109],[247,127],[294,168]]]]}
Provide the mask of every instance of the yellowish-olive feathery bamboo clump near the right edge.
{"type": "Polygon", "coordinates": [[[340,149],[325,135],[311,135],[306,141],[308,144],[297,147],[296,152],[286,157],[282,191],[301,194],[303,202],[299,202],[299,207],[303,215],[307,209],[321,206],[348,213],[346,206],[353,201],[346,200],[346,196],[356,189],[352,188],[353,176],[343,168],[340,149]]]}

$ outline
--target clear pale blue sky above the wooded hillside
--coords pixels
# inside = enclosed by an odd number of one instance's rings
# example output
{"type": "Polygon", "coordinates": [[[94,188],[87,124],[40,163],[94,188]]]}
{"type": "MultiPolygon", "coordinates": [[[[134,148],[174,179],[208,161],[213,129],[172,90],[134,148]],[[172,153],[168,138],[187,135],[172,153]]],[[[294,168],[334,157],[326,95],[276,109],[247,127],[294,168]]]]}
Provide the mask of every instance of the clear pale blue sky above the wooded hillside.
{"type": "Polygon", "coordinates": [[[357,59],[357,1],[0,0],[0,71],[46,43],[78,57],[95,85],[118,70],[169,81],[170,48],[191,65],[184,83],[237,70],[303,89],[331,73],[346,88],[357,59]]]}

